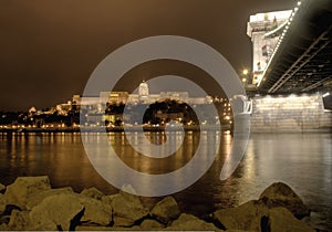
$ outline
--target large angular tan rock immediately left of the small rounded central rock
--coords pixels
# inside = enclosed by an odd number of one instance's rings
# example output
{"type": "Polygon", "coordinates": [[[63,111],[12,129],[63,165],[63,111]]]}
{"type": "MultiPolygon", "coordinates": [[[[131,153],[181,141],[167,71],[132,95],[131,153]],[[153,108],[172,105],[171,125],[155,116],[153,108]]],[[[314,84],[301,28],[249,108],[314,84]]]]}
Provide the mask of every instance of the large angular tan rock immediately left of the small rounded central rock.
{"type": "Polygon", "coordinates": [[[121,191],[112,199],[113,221],[115,226],[132,226],[148,214],[137,196],[121,191]]]}

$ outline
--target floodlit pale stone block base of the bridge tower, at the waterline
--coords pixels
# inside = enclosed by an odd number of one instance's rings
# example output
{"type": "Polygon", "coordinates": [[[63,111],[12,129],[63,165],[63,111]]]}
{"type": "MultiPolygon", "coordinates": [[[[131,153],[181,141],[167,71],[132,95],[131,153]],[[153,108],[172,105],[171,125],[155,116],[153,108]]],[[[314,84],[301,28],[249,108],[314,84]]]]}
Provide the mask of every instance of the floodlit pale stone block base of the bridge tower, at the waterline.
{"type": "Polygon", "coordinates": [[[255,96],[252,133],[332,131],[332,112],[322,95],[255,96]]]}

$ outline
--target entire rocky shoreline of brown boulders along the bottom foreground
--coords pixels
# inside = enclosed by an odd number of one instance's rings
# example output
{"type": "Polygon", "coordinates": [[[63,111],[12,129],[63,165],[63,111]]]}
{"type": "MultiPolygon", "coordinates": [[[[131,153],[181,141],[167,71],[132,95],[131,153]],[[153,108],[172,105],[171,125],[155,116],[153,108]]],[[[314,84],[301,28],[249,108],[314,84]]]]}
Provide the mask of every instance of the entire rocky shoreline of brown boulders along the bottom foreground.
{"type": "Polygon", "coordinates": [[[81,193],[71,187],[52,189],[46,176],[0,183],[1,231],[315,231],[303,220],[309,214],[302,199],[282,182],[268,187],[258,200],[217,210],[206,220],[181,212],[173,197],[148,209],[125,191],[105,196],[96,188],[81,193]]]}

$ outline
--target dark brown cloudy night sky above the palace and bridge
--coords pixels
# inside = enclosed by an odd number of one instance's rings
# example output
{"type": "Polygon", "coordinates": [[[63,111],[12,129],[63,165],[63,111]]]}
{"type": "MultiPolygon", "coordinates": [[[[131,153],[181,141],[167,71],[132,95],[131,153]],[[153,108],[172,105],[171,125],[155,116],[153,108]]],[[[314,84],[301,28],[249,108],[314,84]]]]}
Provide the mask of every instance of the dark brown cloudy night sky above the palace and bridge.
{"type": "MultiPolygon", "coordinates": [[[[0,0],[0,110],[54,106],[82,94],[107,54],[152,35],[199,40],[240,72],[251,66],[249,15],[293,6],[293,0],[0,0]]],[[[188,65],[166,63],[143,65],[118,88],[133,88],[142,76],[190,73],[188,65]]]]}

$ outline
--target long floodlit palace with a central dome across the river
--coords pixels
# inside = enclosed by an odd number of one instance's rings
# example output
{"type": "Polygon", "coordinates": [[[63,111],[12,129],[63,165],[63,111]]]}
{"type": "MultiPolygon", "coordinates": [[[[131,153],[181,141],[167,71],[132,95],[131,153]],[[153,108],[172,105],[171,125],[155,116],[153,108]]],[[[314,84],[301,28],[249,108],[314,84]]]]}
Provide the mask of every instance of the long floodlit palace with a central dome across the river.
{"type": "MultiPolygon", "coordinates": [[[[85,117],[86,122],[90,122],[95,125],[101,124],[101,118],[103,117],[103,120],[106,122],[121,122],[123,120],[123,117],[126,117],[126,120],[131,120],[131,117],[134,117],[133,115],[125,115],[118,110],[116,110],[116,107],[121,107],[121,105],[128,105],[128,107],[133,107],[137,104],[153,104],[156,102],[163,102],[165,99],[170,101],[177,101],[179,103],[187,103],[191,105],[194,108],[198,107],[200,108],[199,112],[204,110],[205,105],[207,104],[216,104],[218,105],[218,112],[220,116],[222,117],[220,119],[225,119],[225,117],[230,120],[231,118],[231,108],[230,104],[227,98],[214,98],[211,96],[204,96],[204,97],[189,97],[188,92],[160,92],[159,94],[149,94],[149,86],[148,83],[142,82],[138,86],[138,94],[129,94],[128,92],[101,92],[100,96],[87,96],[81,97],[80,95],[73,96],[73,103],[81,106],[81,109],[85,110],[85,117]],[[220,102],[221,101],[221,102],[220,102]],[[107,109],[108,113],[105,114],[105,104],[108,103],[112,105],[111,109],[107,109]],[[225,106],[224,106],[225,105],[225,106]]],[[[59,107],[64,107],[64,105],[59,107]]],[[[60,109],[61,112],[65,112],[63,109],[60,109]]],[[[184,118],[184,113],[174,112],[174,113],[163,113],[160,112],[158,115],[156,115],[160,120],[164,118],[184,118]],[[167,114],[167,115],[165,115],[167,114]]]]}

